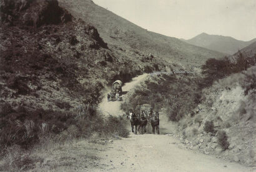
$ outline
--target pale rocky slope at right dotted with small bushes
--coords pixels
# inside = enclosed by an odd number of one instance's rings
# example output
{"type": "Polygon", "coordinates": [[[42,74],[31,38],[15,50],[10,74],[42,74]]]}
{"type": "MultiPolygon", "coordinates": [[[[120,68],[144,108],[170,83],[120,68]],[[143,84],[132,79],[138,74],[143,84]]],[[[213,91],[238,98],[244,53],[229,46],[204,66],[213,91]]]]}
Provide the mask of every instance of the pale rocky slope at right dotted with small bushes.
{"type": "Polygon", "coordinates": [[[256,68],[220,79],[203,90],[195,115],[180,120],[177,130],[193,142],[190,149],[256,165],[256,68]]]}

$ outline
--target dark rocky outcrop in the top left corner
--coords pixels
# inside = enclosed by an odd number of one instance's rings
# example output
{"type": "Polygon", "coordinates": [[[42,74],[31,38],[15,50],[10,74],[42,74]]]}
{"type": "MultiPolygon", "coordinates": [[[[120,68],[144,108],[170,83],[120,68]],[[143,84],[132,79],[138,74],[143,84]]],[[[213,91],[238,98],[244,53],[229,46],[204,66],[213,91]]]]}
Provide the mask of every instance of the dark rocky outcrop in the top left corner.
{"type": "Polygon", "coordinates": [[[0,10],[4,25],[39,27],[72,20],[71,14],[59,7],[57,0],[2,0],[0,10]]]}

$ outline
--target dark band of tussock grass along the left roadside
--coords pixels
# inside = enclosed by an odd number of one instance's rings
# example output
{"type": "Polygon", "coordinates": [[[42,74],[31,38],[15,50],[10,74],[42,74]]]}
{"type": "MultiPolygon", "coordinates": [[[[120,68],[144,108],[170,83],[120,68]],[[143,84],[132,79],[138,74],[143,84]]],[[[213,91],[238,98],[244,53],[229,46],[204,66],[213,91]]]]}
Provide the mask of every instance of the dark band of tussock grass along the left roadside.
{"type": "MultiPolygon", "coordinates": [[[[65,142],[76,138],[88,138],[93,132],[99,135],[112,134],[128,137],[125,120],[119,117],[105,119],[96,106],[86,104],[69,112],[46,111],[39,109],[29,111],[20,107],[16,111],[6,111],[9,105],[2,105],[1,112],[7,114],[1,117],[0,145],[4,148],[2,156],[8,147],[19,145],[21,148],[31,148],[47,137],[65,142]]],[[[46,139],[47,140],[47,139],[46,139]]],[[[53,139],[54,140],[54,139],[53,139]]],[[[56,140],[56,141],[57,141],[56,140]]]]}

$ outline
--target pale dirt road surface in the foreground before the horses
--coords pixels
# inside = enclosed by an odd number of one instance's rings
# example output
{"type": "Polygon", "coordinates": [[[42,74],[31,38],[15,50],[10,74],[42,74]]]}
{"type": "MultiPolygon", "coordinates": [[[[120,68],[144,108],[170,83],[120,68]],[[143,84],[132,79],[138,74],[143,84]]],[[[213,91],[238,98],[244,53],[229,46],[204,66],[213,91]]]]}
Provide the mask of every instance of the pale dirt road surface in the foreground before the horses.
{"type": "Polygon", "coordinates": [[[134,135],[115,140],[93,171],[253,171],[252,168],[178,148],[167,135],[134,135]]]}

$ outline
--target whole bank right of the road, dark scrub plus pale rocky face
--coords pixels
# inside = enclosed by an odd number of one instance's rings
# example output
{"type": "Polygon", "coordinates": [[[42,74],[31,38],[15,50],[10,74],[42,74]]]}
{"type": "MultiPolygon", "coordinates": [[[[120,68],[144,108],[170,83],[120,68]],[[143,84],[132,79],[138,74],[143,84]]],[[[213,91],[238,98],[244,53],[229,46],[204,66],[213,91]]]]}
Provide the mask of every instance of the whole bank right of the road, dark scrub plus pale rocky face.
{"type": "Polygon", "coordinates": [[[132,101],[122,104],[122,108],[150,104],[176,122],[177,133],[191,140],[192,148],[253,165],[250,152],[255,152],[254,65],[255,56],[239,53],[235,63],[228,58],[207,60],[202,77],[154,76],[139,86],[132,101]]]}

